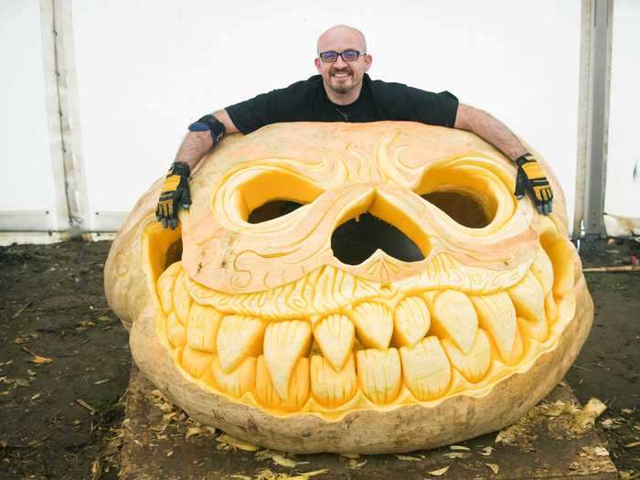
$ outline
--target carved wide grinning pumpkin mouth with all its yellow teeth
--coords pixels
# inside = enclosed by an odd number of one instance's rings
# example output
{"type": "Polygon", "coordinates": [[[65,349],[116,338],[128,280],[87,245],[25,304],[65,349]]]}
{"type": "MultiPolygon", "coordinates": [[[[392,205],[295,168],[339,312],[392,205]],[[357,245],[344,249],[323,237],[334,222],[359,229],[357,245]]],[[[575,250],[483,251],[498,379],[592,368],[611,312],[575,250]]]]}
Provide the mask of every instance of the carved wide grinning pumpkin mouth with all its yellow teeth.
{"type": "MultiPolygon", "coordinates": [[[[444,278],[447,254],[432,260],[444,278]]],[[[574,314],[568,240],[493,289],[363,281],[325,266],[261,293],[219,293],[180,261],[156,283],[157,332],[203,388],[276,415],[337,419],[357,409],[485,395],[555,347],[574,314]]]]}

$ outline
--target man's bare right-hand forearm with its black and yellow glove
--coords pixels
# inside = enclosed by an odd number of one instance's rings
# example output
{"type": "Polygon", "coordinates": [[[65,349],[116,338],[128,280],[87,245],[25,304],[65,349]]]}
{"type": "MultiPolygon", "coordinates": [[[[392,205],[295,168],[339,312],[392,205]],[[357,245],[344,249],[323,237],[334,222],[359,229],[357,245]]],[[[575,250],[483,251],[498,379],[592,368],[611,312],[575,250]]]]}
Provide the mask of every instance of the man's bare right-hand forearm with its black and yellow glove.
{"type": "Polygon", "coordinates": [[[533,155],[504,123],[485,111],[460,103],[453,128],[475,133],[516,162],[516,197],[522,198],[528,191],[540,213],[551,213],[553,192],[549,180],[533,155]]]}

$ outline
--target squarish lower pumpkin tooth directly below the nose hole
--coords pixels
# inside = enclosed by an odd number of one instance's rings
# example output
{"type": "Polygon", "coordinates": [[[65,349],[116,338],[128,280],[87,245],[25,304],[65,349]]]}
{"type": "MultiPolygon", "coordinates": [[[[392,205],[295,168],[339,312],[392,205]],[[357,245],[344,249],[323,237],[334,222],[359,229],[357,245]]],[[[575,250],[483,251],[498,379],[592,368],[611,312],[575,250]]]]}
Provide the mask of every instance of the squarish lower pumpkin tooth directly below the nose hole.
{"type": "Polygon", "coordinates": [[[360,350],[357,358],[357,383],[368,400],[390,403],[400,393],[402,369],[395,348],[360,350]]]}

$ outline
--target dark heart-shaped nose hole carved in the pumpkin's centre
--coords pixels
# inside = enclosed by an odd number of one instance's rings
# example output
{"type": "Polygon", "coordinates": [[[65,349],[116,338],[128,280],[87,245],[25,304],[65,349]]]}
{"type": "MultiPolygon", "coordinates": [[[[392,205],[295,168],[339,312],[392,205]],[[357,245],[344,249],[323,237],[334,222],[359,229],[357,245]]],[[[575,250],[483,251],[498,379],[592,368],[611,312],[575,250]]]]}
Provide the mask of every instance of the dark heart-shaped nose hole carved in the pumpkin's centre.
{"type": "Polygon", "coordinates": [[[340,225],[331,236],[331,249],[336,259],[348,265],[366,261],[378,249],[400,261],[424,260],[413,240],[368,212],[340,225]]]}

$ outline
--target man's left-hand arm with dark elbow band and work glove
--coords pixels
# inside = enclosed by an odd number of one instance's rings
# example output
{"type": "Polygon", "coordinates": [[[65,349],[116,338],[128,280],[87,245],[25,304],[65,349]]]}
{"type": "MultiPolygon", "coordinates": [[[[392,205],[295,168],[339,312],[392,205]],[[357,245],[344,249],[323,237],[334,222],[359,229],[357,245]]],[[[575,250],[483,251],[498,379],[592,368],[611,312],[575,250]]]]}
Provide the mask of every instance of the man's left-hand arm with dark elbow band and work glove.
{"type": "Polygon", "coordinates": [[[160,190],[160,198],[155,208],[155,218],[161,220],[165,228],[175,229],[178,208],[189,208],[191,205],[189,188],[191,172],[196,169],[204,155],[218,143],[224,133],[238,132],[227,111],[219,110],[213,114],[213,117],[215,118],[205,115],[197,123],[190,125],[187,136],[178,148],[176,161],[165,177],[165,184],[160,190]]]}

